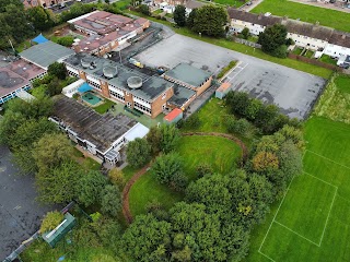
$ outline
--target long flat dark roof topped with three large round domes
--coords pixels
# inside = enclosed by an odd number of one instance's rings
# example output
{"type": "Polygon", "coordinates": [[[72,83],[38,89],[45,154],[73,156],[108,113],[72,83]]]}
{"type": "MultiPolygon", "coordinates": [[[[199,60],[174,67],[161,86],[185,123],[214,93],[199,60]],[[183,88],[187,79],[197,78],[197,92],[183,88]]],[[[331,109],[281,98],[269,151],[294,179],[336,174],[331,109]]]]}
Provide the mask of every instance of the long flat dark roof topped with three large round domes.
{"type": "Polygon", "coordinates": [[[124,90],[148,102],[152,102],[173,86],[173,83],[162,78],[149,76],[109,59],[93,57],[84,52],[75,53],[67,58],[65,62],[73,68],[83,70],[94,78],[108,82],[112,86],[124,90]],[[90,64],[93,66],[89,67],[90,64]],[[108,78],[105,75],[107,71],[112,72],[112,75],[109,74],[108,78]],[[113,72],[115,72],[115,74],[113,74],[113,72]],[[142,80],[142,86],[140,88],[130,88],[128,86],[127,81],[131,76],[139,76],[142,80]]]}

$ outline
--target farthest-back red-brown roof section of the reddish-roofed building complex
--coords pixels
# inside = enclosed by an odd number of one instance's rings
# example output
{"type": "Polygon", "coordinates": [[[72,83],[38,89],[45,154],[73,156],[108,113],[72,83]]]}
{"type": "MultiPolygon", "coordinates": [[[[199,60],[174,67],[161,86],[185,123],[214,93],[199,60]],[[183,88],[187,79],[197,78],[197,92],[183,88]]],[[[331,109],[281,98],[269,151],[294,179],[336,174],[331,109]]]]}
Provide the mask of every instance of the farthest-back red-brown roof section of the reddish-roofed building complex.
{"type": "Polygon", "coordinates": [[[148,20],[145,19],[132,20],[124,15],[113,14],[105,11],[94,11],[90,14],[70,20],[68,23],[92,31],[95,34],[104,35],[109,34],[117,28],[126,27],[127,25],[133,31],[137,27],[142,26],[148,20]]]}

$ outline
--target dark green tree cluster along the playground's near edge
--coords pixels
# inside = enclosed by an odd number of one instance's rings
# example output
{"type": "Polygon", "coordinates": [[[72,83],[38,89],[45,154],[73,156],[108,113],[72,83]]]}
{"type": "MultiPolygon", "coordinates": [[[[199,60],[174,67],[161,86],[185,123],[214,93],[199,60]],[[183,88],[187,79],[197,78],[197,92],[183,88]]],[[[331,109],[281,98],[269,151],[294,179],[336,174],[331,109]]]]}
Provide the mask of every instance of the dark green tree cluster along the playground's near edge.
{"type": "MultiPolygon", "coordinates": [[[[225,104],[232,114],[252,121],[264,134],[271,134],[280,130],[284,124],[300,126],[298,119],[290,119],[280,114],[277,106],[264,105],[260,100],[250,98],[244,92],[229,92],[225,104]]],[[[240,126],[243,126],[242,122],[240,126]]],[[[238,127],[234,127],[234,123],[230,124],[232,131],[235,128],[238,127]]]]}

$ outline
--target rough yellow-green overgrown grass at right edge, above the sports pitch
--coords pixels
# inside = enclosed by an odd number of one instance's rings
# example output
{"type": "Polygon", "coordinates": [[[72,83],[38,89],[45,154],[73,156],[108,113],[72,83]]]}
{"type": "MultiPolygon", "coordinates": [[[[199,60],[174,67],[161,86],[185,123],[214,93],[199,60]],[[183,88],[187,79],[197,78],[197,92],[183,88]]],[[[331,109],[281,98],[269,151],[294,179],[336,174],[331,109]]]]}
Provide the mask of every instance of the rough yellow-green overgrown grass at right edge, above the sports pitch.
{"type": "Polygon", "coordinates": [[[335,74],[315,107],[315,115],[350,123],[350,78],[335,74]]]}

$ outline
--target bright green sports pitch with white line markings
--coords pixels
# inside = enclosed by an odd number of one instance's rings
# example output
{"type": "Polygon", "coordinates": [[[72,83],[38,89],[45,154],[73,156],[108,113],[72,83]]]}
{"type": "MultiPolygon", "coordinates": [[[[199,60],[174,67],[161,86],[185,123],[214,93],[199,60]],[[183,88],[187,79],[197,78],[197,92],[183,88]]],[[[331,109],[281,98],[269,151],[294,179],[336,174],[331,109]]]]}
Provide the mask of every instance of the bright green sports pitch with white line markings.
{"type": "Polygon", "coordinates": [[[254,231],[246,261],[350,261],[350,126],[313,117],[305,140],[304,172],[254,231]]]}

